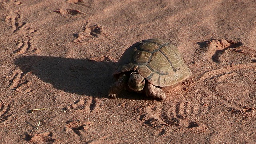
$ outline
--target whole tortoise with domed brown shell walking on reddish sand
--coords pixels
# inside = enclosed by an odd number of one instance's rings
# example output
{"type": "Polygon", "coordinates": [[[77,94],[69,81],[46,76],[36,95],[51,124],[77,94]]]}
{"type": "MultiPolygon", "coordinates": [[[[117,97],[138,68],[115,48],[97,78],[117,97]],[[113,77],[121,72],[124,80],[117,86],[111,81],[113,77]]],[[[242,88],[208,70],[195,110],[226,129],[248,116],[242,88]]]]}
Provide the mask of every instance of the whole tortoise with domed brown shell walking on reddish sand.
{"type": "Polygon", "coordinates": [[[130,90],[165,100],[164,91],[191,83],[191,75],[176,46],[159,39],[142,40],[122,54],[108,96],[116,99],[122,90],[130,90]]]}

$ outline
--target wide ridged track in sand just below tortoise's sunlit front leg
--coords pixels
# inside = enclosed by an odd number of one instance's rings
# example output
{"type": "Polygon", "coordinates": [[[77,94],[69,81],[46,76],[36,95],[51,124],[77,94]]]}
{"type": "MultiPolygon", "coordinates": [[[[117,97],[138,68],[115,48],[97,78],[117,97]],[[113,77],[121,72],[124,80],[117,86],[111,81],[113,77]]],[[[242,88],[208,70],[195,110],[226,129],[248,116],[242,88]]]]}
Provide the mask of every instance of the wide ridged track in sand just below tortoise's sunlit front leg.
{"type": "Polygon", "coordinates": [[[140,109],[140,116],[137,120],[152,127],[159,125],[176,126],[179,128],[201,127],[201,124],[192,119],[196,119],[203,112],[203,110],[198,110],[200,107],[201,109],[207,109],[202,108],[201,104],[197,106],[190,102],[181,101],[174,102],[172,105],[163,104],[160,107],[150,105],[144,109],[140,109]]]}

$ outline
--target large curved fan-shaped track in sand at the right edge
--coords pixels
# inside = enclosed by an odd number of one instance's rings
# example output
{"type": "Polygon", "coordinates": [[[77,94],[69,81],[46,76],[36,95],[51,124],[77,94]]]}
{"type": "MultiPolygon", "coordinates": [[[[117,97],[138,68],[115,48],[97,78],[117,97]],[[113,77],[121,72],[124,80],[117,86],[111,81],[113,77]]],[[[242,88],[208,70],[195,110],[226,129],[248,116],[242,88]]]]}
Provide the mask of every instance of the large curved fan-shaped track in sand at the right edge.
{"type": "Polygon", "coordinates": [[[254,110],[246,111],[244,106],[250,108],[256,103],[254,93],[256,84],[255,67],[255,63],[226,66],[205,72],[200,76],[198,82],[204,82],[206,86],[204,89],[208,95],[224,104],[228,109],[254,114],[254,110]]]}

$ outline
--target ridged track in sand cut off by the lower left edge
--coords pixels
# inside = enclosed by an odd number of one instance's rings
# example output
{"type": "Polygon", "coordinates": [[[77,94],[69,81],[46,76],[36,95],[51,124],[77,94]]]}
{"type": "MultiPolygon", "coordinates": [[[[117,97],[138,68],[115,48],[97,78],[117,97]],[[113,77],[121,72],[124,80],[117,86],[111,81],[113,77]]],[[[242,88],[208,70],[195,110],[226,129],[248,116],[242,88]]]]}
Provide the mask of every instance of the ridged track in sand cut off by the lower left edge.
{"type": "Polygon", "coordinates": [[[0,102],[0,126],[8,124],[8,120],[12,114],[8,114],[13,102],[0,102]]]}

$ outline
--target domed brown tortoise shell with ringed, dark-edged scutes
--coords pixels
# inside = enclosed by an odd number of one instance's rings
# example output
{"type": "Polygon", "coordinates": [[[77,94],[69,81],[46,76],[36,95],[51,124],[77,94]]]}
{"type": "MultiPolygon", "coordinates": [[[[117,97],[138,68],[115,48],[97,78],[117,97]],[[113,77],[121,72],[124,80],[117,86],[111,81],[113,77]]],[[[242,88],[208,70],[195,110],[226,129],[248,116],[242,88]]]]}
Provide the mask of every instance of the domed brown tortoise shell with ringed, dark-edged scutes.
{"type": "Polygon", "coordinates": [[[122,54],[113,76],[137,71],[148,82],[160,88],[174,87],[192,75],[178,49],[159,39],[136,42],[122,54]]]}

